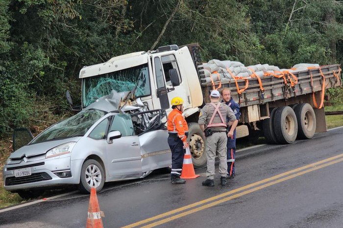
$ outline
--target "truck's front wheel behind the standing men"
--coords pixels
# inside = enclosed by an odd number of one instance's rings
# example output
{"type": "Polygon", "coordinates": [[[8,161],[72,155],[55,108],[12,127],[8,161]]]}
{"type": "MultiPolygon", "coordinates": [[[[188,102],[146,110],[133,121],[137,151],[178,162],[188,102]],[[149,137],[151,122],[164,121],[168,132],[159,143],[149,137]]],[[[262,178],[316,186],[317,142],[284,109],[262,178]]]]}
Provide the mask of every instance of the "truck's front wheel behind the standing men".
{"type": "Polygon", "coordinates": [[[204,167],[207,161],[205,153],[206,137],[197,123],[188,124],[187,140],[190,146],[194,168],[204,167]]]}

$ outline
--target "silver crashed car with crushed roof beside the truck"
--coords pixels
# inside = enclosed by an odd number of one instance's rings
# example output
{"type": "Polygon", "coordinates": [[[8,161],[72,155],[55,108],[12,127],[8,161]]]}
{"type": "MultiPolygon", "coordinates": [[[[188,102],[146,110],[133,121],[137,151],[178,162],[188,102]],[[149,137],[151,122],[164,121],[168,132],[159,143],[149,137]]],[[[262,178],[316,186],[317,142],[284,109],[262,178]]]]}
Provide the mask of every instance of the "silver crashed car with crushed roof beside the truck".
{"type": "MultiPolygon", "coordinates": [[[[128,105],[123,96],[112,91],[27,145],[16,150],[14,144],[2,172],[4,188],[23,198],[69,184],[89,193],[91,187],[100,191],[104,182],[143,178],[170,167],[165,111],[144,110],[139,99],[128,105]]],[[[23,140],[17,135],[14,143],[23,140]]]]}

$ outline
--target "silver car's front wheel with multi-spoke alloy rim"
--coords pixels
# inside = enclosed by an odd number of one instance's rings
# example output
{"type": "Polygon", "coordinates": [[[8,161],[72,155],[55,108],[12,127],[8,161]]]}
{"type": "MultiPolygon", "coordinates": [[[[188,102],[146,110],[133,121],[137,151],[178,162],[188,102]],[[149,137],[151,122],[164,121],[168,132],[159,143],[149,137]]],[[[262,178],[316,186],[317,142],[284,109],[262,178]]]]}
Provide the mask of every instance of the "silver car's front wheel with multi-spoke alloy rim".
{"type": "Polygon", "coordinates": [[[89,194],[95,187],[99,192],[105,182],[105,174],[101,164],[93,159],[86,160],[81,168],[81,177],[78,188],[80,192],[89,194]]]}

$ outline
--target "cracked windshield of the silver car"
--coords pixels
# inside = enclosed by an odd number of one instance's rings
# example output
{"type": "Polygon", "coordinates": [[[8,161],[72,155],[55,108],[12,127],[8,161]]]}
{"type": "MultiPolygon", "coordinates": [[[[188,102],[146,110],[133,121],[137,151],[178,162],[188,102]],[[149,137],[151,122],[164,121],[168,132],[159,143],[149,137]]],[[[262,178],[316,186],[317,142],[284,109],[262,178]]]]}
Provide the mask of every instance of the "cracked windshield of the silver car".
{"type": "Polygon", "coordinates": [[[51,126],[32,143],[44,142],[53,139],[84,136],[90,127],[106,113],[97,109],[90,109],[65,119],[51,126]]]}

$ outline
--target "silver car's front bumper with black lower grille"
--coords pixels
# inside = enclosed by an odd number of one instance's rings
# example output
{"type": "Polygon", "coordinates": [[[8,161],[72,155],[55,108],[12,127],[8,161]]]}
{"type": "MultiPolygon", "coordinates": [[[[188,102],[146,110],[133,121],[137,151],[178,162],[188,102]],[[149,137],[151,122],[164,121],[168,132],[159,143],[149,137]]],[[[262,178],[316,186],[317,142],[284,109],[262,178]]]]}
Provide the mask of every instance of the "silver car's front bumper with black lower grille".
{"type": "Polygon", "coordinates": [[[16,178],[14,170],[21,168],[18,165],[5,165],[3,168],[4,188],[7,191],[28,190],[32,188],[45,188],[54,185],[78,184],[83,160],[71,160],[70,157],[58,159],[45,159],[32,163],[28,168],[31,175],[16,178]],[[70,172],[70,177],[61,178],[55,173],[70,172]]]}

